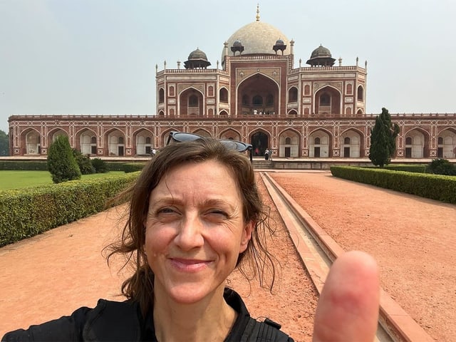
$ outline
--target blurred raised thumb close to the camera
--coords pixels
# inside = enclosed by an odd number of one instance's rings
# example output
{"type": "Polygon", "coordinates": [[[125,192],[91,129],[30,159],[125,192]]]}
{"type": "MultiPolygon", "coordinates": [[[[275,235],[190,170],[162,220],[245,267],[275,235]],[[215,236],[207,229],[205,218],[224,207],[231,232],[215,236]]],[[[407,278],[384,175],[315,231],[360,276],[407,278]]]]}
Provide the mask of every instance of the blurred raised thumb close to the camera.
{"type": "Polygon", "coordinates": [[[334,261],[321,291],[314,342],[372,342],[378,324],[378,266],[364,252],[346,252],[334,261]]]}

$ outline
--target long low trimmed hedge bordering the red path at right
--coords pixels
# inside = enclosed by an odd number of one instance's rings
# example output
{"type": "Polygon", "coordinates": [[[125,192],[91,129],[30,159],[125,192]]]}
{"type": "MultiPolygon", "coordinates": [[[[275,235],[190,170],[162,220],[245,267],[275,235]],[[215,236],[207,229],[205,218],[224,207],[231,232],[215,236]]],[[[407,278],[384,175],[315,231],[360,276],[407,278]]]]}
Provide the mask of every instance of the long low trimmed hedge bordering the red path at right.
{"type": "Polygon", "coordinates": [[[331,166],[331,174],[346,180],[456,204],[454,176],[352,166],[331,166]]]}

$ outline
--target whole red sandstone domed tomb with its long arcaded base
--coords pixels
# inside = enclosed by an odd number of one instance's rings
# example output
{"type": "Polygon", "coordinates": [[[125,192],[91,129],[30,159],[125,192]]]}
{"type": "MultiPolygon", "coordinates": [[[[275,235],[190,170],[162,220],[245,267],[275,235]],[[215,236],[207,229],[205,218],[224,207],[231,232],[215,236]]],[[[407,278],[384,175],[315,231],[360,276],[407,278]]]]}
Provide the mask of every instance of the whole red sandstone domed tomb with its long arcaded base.
{"type": "MultiPolygon", "coordinates": [[[[157,115],[13,115],[10,155],[46,155],[57,135],[94,157],[150,155],[178,130],[249,142],[254,155],[269,148],[275,157],[368,157],[375,115],[366,115],[367,63],[333,66],[320,46],[310,66],[299,60],[294,68],[294,41],[284,37],[257,14],[224,43],[221,68],[207,68],[199,50],[185,68],[157,68],[157,115]]],[[[455,158],[456,114],[392,119],[397,157],[455,158]]]]}

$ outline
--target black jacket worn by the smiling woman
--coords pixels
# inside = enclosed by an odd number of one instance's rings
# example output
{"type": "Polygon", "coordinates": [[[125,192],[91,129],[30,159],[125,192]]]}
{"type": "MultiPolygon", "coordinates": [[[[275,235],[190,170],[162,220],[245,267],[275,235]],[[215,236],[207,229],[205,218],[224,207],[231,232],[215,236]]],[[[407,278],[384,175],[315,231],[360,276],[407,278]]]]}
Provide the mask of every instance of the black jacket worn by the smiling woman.
{"type": "MultiPolygon", "coordinates": [[[[266,319],[259,322],[251,318],[239,294],[225,289],[224,299],[237,311],[226,342],[288,341],[292,342],[280,326],[266,319]]],[[[71,316],[6,333],[1,341],[157,341],[152,310],[143,317],[135,301],[106,301],[100,299],[94,309],[82,307],[71,316]]]]}

